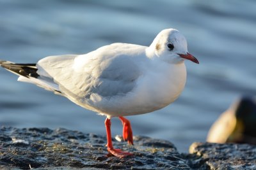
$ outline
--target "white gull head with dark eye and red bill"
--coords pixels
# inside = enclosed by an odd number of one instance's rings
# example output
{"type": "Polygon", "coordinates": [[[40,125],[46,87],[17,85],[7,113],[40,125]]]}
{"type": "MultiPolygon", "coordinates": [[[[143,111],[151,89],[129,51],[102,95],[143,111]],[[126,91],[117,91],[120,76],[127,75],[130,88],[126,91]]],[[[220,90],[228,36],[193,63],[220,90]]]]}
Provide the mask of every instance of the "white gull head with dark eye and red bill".
{"type": "Polygon", "coordinates": [[[164,29],[159,32],[147,51],[151,56],[169,63],[178,64],[191,60],[199,64],[198,60],[188,53],[187,40],[177,29],[164,29]]]}

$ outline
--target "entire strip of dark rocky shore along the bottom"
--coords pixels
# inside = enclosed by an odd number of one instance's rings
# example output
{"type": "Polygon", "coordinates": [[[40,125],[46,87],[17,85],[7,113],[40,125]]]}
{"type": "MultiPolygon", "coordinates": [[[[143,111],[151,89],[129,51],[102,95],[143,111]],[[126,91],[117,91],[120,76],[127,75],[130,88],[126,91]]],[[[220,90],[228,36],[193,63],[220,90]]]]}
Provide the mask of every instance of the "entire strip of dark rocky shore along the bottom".
{"type": "Polygon", "coordinates": [[[129,146],[116,136],[113,145],[134,154],[108,154],[106,137],[67,129],[1,127],[0,169],[256,169],[256,146],[193,143],[179,153],[170,141],[134,136],[129,146]]]}

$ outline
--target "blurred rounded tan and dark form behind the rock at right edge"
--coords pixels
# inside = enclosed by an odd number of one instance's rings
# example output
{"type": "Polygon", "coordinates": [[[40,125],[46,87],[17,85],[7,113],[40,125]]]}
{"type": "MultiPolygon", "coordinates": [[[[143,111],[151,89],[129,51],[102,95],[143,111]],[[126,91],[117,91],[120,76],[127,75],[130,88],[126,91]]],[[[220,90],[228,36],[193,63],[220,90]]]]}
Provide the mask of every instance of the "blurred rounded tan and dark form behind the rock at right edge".
{"type": "Polygon", "coordinates": [[[212,125],[207,141],[256,145],[256,98],[241,97],[212,125]]]}

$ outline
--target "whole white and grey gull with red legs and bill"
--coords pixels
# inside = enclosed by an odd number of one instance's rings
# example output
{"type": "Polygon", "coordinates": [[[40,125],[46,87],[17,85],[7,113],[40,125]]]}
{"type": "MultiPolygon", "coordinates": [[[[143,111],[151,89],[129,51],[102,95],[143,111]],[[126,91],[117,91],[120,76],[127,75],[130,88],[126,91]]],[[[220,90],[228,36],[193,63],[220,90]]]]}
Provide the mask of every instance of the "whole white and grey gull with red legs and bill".
{"type": "Polygon", "coordinates": [[[164,29],[150,46],[113,43],[83,55],[49,56],[36,64],[0,60],[0,65],[17,74],[18,81],[33,83],[105,115],[108,152],[124,158],[132,153],[113,147],[111,118],[121,120],[123,138],[133,145],[131,123],[125,116],[173,103],[186,83],[184,60],[199,64],[188,53],[186,38],[177,29],[164,29]]]}

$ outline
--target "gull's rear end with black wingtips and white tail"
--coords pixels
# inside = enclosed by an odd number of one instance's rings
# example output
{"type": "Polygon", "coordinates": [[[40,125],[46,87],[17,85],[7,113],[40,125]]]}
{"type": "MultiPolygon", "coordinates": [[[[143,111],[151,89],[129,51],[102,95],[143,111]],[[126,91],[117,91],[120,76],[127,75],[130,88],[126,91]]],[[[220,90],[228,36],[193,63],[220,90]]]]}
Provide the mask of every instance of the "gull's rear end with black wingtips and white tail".
{"type": "Polygon", "coordinates": [[[16,64],[14,62],[0,60],[0,66],[14,74],[17,74],[19,76],[18,81],[33,83],[45,90],[62,95],[58,84],[54,83],[52,78],[40,76],[40,74],[37,73],[38,68],[36,67],[36,64],[16,64]]]}

